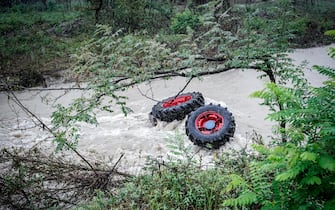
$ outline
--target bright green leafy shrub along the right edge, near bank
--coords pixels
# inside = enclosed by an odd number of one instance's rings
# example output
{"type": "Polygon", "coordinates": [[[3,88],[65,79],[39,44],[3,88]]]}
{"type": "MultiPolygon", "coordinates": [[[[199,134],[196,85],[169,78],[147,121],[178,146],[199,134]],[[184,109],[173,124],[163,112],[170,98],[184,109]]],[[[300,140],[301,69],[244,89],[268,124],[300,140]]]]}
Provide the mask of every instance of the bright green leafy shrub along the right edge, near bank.
{"type": "Polygon", "coordinates": [[[267,158],[258,163],[258,170],[269,165],[276,169],[264,208],[322,209],[334,200],[335,71],[315,69],[329,78],[322,87],[309,87],[300,82],[303,78],[291,76],[293,87],[271,83],[254,94],[271,108],[271,119],[287,123],[288,143],[269,148],[267,158]]]}

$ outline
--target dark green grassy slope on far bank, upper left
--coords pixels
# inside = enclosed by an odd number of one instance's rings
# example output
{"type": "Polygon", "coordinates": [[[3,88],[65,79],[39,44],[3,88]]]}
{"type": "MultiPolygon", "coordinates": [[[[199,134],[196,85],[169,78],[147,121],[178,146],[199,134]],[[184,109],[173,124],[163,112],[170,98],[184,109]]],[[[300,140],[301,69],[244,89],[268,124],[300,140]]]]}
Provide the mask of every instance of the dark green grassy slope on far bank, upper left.
{"type": "MultiPolygon", "coordinates": [[[[94,27],[94,20],[81,10],[26,7],[14,6],[0,14],[0,68],[14,80],[29,72],[42,75],[66,69],[69,55],[89,38],[94,27]]],[[[26,82],[18,85],[36,85],[29,84],[29,79],[26,82]]]]}

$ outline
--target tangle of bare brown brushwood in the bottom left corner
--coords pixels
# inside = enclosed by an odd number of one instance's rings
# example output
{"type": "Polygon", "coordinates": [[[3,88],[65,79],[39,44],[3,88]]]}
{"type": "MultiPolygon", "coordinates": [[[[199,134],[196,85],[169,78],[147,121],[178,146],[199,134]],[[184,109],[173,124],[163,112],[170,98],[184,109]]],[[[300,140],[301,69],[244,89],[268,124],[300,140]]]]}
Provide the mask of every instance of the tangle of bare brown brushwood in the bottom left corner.
{"type": "Polygon", "coordinates": [[[74,164],[37,148],[2,149],[0,163],[6,167],[0,173],[0,208],[49,209],[57,205],[63,209],[91,199],[96,189],[111,191],[132,177],[116,169],[123,156],[112,167],[97,160],[97,169],[92,171],[84,163],[74,164]],[[117,175],[116,179],[111,175],[117,175]]]}

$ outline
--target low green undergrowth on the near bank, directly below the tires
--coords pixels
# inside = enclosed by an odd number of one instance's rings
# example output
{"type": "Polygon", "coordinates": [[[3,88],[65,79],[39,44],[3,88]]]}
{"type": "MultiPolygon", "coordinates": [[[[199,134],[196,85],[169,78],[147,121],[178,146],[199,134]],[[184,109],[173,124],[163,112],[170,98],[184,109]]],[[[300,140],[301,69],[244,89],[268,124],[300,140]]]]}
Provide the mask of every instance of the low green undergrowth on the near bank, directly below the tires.
{"type": "MultiPolygon", "coordinates": [[[[227,207],[223,205],[224,200],[239,192],[235,189],[242,188],[239,187],[241,182],[246,183],[243,181],[249,176],[246,163],[256,158],[245,151],[227,152],[213,157],[217,161],[216,166],[211,167],[204,165],[202,157],[190,150],[183,135],[177,133],[167,141],[171,151],[166,158],[148,158],[143,174],[112,195],[98,195],[82,209],[92,206],[103,209],[221,209],[227,207]],[[237,174],[227,175],[235,169],[245,172],[241,175],[243,178],[237,174]]],[[[262,187],[257,185],[255,191],[262,187]]],[[[240,202],[253,204],[255,196],[246,192],[240,202]]]]}

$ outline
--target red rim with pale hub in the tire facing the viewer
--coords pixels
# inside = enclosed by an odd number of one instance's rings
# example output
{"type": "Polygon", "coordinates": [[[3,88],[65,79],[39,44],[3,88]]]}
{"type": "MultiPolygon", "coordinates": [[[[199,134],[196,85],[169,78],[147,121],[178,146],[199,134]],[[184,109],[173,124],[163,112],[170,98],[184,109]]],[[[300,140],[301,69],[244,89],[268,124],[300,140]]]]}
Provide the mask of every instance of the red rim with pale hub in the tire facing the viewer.
{"type": "Polygon", "coordinates": [[[220,130],[223,126],[224,118],[217,112],[214,111],[207,111],[201,113],[195,119],[195,127],[202,133],[202,134],[212,134],[220,130]]]}

